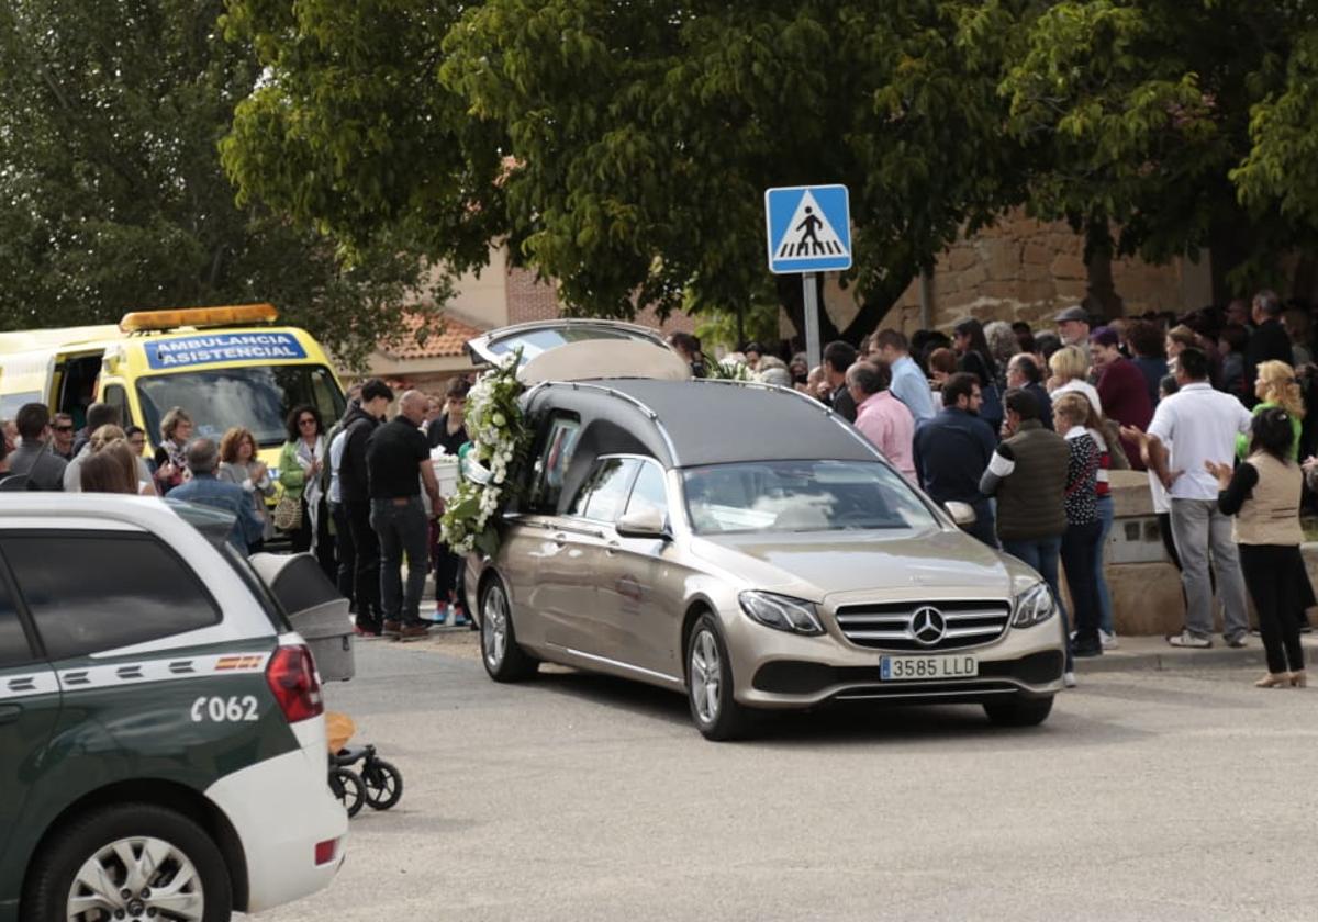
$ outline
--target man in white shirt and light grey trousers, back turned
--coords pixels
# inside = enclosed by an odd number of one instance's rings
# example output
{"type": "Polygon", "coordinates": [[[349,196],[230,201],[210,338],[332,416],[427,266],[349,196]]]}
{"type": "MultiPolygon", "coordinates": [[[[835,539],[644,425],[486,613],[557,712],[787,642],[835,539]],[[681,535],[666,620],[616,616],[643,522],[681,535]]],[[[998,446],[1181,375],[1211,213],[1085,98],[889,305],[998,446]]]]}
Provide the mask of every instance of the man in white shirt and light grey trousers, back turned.
{"type": "Polygon", "coordinates": [[[1172,535],[1181,556],[1186,612],[1185,630],[1168,637],[1168,643],[1213,645],[1211,553],[1227,645],[1244,647],[1249,632],[1244,578],[1231,540],[1231,516],[1218,511],[1218,482],[1205,461],[1230,465],[1235,460],[1236,435],[1249,432],[1252,416],[1236,398],[1213,390],[1209,358],[1198,349],[1185,349],[1177,357],[1176,381],[1180,393],[1159,403],[1148,435],[1136,428],[1122,429],[1128,439],[1140,441],[1140,454],[1172,497],[1172,535]]]}

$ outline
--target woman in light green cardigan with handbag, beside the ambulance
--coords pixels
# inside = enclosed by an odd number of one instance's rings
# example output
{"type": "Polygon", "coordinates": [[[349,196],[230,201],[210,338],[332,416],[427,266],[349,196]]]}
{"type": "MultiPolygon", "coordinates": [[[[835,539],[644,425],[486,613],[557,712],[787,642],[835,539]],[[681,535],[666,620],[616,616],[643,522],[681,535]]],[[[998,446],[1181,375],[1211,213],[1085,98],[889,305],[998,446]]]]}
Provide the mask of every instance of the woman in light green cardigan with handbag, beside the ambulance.
{"type": "Polygon", "coordinates": [[[275,508],[275,526],[291,532],[294,553],[310,552],[320,569],[337,585],[330,507],[322,473],[330,462],[320,412],[310,403],[289,414],[289,441],[279,449],[279,483],[283,499],[275,508]],[[295,512],[293,504],[295,506],[295,512]],[[290,519],[297,518],[297,522],[290,519]],[[291,526],[291,527],[289,527],[291,526]]]}

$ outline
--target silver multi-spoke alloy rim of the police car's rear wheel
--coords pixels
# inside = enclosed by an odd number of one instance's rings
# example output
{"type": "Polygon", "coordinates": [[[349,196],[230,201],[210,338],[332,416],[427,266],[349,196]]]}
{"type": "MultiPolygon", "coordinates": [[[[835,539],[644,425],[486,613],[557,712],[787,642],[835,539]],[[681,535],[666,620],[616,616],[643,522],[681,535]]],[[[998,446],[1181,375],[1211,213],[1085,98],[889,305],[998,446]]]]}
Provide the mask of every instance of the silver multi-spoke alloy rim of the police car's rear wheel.
{"type": "Polygon", "coordinates": [[[200,922],[202,877],[179,848],[163,839],[119,839],[88,857],[69,889],[67,922],[158,919],[200,922]]]}

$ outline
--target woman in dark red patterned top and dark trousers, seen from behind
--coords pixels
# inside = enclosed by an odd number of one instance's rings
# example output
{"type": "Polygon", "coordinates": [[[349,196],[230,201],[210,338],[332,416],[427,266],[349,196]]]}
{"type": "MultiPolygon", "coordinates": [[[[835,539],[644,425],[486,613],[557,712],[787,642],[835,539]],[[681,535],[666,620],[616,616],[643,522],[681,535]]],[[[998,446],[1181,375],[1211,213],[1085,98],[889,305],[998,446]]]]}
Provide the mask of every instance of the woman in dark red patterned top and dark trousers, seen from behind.
{"type": "Polygon", "coordinates": [[[1095,552],[1102,535],[1098,516],[1098,443],[1085,428],[1090,403],[1083,394],[1064,394],[1053,402],[1053,423],[1066,437],[1070,460],[1066,468],[1066,532],[1062,535],[1062,569],[1075,612],[1074,656],[1102,656],[1098,639],[1099,602],[1095,552]]]}

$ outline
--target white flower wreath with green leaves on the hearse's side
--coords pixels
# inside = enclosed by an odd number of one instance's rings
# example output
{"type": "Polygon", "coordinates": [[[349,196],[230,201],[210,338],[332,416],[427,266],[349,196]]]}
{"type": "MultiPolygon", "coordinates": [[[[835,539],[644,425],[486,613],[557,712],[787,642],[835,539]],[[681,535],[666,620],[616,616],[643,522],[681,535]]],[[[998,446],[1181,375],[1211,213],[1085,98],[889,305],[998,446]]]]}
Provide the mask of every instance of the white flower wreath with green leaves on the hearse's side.
{"type": "Polygon", "coordinates": [[[463,450],[457,491],[448,498],[440,531],[453,553],[467,555],[480,548],[488,555],[498,549],[498,531],[492,524],[507,503],[509,475],[527,444],[522,418],[522,383],[517,379],[521,350],[484,373],[467,394],[467,432],[472,437],[463,450]]]}

